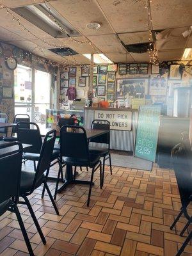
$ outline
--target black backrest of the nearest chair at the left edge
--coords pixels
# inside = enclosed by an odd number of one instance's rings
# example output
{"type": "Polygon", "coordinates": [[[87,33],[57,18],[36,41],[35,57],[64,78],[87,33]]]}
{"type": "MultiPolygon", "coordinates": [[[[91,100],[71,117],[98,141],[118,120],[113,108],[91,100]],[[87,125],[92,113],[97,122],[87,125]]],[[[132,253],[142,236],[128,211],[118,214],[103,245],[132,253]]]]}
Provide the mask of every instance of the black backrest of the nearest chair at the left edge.
{"type": "Polygon", "coordinates": [[[19,200],[20,174],[22,165],[22,144],[19,142],[3,143],[0,150],[18,146],[18,150],[9,152],[6,156],[0,155],[0,204],[15,196],[19,200]]]}

